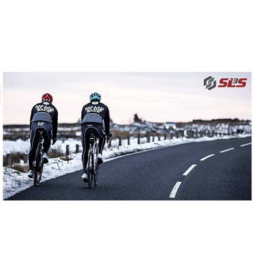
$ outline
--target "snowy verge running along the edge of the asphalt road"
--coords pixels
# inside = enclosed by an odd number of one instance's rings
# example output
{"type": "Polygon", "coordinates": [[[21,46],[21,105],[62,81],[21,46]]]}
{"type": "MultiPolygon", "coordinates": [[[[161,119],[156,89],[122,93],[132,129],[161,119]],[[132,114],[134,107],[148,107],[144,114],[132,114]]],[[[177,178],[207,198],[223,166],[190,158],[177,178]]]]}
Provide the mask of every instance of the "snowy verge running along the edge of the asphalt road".
{"type": "MultiPolygon", "coordinates": [[[[162,140],[151,143],[144,143],[139,145],[131,146],[120,146],[115,148],[106,148],[103,152],[104,159],[112,160],[115,157],[131,154],[135,152],[141,152],[146,150],[152,150],[154,148],[174,146],[178,144],[184,144],[189,142],[202,142],[211,140],[223,140],[223,139],[234,139],[234,138],[245,138],[251,135],[226,135],[223,137],[202,137],[198,139],[188,139],[188,138],[175,138],[172,140],[162,140]]],[[[72,154],[72,160],[63,161],[60,158],[49,159],[49,163],[44,166],[44,173],[42,175],[41,182],[46,180],[54,179],[59,176],[76,172],[82,169],[81,153],[72,154]]],[[[107,161],[109,161],[107,160],[107,161]]],[[[80,179],[80,174],[77,176],[80,179]]],[[[3,173],[3,196],[7,199],[20,191],[23,191],[31,186],[33,186],[33,180],[27,177],[27,173],[20,173],[17,170],[4,167],[3,173]]]]}

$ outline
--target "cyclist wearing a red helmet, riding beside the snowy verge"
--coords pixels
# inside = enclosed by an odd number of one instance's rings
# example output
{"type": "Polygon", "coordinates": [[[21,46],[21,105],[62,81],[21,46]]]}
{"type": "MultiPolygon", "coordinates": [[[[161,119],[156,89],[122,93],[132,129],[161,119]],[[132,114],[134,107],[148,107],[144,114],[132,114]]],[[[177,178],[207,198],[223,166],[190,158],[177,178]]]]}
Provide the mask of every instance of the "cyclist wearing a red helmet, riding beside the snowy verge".
{"type": "Polygon", "coordinates": [[[48,151],[51,146],[51,139],[54,144],[57,141],[58,111],[52,104],[53,97],[46,93],[42,95],[42,102],[33,106],[30,116],[30,152],[29,152],[29,173],[28,177],[33,178],[33,161],[36,155],[36,148],[39,142],[37,131],[44,131],[44,155],[42,160],[48,163],[48,151]]]}

